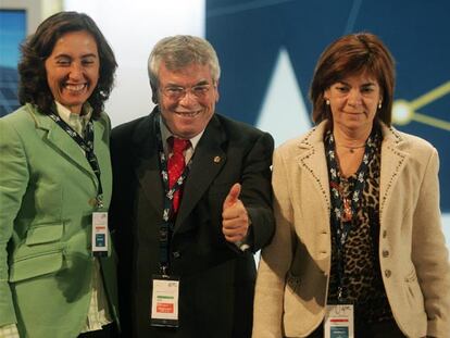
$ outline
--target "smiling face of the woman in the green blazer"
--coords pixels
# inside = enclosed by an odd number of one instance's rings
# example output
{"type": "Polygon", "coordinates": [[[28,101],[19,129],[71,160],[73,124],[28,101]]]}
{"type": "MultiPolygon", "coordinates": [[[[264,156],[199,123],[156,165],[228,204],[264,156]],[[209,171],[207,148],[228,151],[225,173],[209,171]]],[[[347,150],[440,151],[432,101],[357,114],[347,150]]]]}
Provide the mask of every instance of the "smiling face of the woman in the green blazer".
{"type": "Polygon", "coordinates": [[[58,39],[46,60],[47,83],[55,101],[79,114],[99,80],[100,59],[95,38],[86,30],[58,39]]]}

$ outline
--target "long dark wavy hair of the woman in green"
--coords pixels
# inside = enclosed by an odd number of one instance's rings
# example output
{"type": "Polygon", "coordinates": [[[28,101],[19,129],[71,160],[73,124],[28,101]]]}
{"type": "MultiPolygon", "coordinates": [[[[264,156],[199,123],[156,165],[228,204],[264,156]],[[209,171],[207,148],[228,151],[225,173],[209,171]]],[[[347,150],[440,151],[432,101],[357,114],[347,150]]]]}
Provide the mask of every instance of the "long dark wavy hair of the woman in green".
{"type": "Polygon", "coordinates": [[[51,111],[54,98],[47,83],[46,60],[64,34],[80,30],[91,34],[97,42],[100,58],[99,82],[88,102],[93,110],[92,117],[100,116],[104,101],[108,100],[113,88],[117,63],[111,47],[93,20],[77,12],[60,12],[48,17],[22,45],[22,58],[18,63],[21,104],[36,104],[46,114],[51,111]]]}

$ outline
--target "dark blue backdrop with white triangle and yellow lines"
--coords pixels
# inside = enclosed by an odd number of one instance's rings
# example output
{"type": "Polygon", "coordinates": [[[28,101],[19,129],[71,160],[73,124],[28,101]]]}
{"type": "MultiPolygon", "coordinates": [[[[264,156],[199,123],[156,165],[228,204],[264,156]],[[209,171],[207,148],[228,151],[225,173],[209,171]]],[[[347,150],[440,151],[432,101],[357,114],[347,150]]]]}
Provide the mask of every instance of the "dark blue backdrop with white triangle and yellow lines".
{"type": "Polygon", "coordinates": [[[311,126],[308,89],[320,53],[343,34],[374,33],[397,61],[395,126],[438,149],[441,209],[449,213],[449,13],[447,0],[207,0],[207,38],[223,71],[217,110],[254,125],[265,121],[270,132],[293,125],[300,135],[311,126]]]}

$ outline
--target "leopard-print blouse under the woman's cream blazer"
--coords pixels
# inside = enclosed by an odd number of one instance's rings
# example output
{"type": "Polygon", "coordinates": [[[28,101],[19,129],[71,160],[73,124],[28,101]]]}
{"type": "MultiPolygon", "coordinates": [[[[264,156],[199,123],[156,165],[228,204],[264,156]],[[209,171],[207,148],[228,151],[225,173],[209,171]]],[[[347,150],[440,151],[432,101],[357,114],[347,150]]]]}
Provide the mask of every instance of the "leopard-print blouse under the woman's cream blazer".
{"type": "Polygon", "coordinates": [[[330,217],[333,236],[328,304],[352,303],[355,321],[367,324],[392,320],[378,259],[382,138],[379,128],[374,128],[365,146],[363,163],[357,173],[345,178],[340,175],[337,161],[332,159],[335,155],[333,133],[327,132],[325,135],[332,210],[338,211],[337,215],[332,213],[330,217]],[[332,179],[334,173],[337,176],[332,179]],[[338,186],[333,186],[333,183],[338,186]],[[360,198],[355,192],[358,189],[361,189],[360,198]],[[353,214],[348,222],[341,216],[343,198],[357,201],[352,202],[353,214]],[[338,235],[337,231],[337,227],[342,228],[342,223],[349,227],[343,239],[342,234],[338,235]],[[342,292],[338,300],[339,286],[342,292]]]}

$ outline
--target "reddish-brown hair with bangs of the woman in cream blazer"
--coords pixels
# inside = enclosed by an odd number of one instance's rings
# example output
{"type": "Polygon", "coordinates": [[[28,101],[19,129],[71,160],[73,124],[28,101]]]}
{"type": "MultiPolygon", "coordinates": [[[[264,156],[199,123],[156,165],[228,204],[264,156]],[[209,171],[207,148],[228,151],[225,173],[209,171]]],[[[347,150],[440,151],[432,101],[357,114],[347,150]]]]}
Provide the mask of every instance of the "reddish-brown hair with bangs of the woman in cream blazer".
{"type": "Polygon", "coordinates": [[[312,120],[315,124],[333,118],[325,103],[325,90],[347,76],[362,73],[373,76],[378,82],[383,104],[376,117],[390,125],[396,84],[395,61],[382,40],[370,33],[340,37],[329,45],[318,59],[310,88],[312,120]]]}

